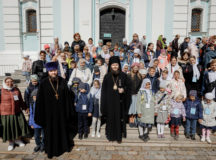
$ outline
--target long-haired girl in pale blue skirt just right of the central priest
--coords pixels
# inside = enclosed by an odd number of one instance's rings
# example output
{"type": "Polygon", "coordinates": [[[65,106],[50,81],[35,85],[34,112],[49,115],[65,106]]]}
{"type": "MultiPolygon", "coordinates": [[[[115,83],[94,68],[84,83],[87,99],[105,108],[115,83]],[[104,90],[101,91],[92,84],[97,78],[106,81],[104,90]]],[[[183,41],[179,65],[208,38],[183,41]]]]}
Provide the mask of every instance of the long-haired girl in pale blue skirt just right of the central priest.
{"type": "Polygon", "coordinates": [[[142,83],[142,77],[139,73],[139,63],[133,63],[131,66],[131,73],[129,74],[131,80],[131,94],[132,102],[129,109],[129,124],[131,127],[135,126],[135,117],[136,117],[136,103],[137,103],[137,93],[140,89],[142,83]]]}

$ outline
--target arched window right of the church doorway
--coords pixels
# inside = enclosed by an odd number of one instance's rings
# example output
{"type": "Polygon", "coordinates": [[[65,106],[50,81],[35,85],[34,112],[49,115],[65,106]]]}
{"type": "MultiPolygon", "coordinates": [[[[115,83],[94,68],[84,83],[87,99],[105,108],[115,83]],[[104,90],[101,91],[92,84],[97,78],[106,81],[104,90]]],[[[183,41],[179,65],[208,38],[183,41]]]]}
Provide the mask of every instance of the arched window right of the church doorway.
{"type": "Polygon", "coordinates": [[[191,16],[191,32],[200,32],[201,31],[201,9],[193,9],[191,16]]]}

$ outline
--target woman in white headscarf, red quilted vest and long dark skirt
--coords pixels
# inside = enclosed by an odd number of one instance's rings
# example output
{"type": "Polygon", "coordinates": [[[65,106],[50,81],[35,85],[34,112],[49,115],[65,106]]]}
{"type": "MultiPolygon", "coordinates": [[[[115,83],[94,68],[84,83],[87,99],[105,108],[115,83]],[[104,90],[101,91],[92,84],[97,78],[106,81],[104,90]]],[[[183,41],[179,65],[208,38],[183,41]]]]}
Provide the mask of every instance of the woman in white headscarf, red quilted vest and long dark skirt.
{"type": "Polygon", "coordinates": [[[0,115],[3,126],[3,142],[9,141],[8,151],[12,151],[15,144],[19,147],[25,146],[20,138],[30,133],[22,113],[22,110],[26,109],[20,90],[14,87],[13,79],[5,78],[0,90],[0,115]]]}

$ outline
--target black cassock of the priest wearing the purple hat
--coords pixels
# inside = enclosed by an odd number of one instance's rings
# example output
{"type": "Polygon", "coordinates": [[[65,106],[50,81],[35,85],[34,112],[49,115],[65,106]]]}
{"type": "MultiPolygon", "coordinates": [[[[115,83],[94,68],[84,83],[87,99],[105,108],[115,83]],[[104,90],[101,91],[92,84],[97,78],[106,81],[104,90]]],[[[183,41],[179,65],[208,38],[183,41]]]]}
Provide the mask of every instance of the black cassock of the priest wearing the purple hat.
{"type": "MultiPolygon", "coordinates": [[[[41,82],[36,100],[34,119],[44,129],[45,153],[48,158],[70,151],[73,144],[70,134],[75,125],[74,96],[69,92],[66,81],[61,77],[58,79],[58,100],[48,77],[41,82]]],[[[53,82],[55,88],[56,84],[53,82]]]]}

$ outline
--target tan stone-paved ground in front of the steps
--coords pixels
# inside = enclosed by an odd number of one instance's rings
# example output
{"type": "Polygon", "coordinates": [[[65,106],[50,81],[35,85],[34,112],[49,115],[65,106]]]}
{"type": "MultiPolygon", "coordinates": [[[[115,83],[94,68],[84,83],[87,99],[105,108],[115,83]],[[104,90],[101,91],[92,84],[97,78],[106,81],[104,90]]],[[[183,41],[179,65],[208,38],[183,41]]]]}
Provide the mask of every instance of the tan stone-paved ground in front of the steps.
{"type": "MultiPolygon", "coordinates": [[[[44,160],[44,153],[32,153],[34,144],[7,152],[7,144],[0,144],[2,160],[44,160]]],[[[216,160],[215,147],[128,147],[128,146],[75,146],[70,153],[53,159],[71,160],[216,160]]]]}

